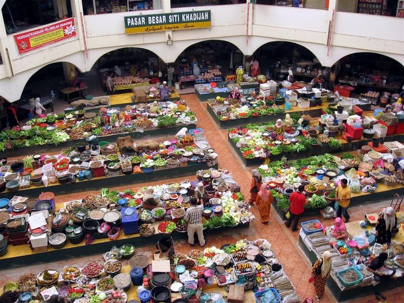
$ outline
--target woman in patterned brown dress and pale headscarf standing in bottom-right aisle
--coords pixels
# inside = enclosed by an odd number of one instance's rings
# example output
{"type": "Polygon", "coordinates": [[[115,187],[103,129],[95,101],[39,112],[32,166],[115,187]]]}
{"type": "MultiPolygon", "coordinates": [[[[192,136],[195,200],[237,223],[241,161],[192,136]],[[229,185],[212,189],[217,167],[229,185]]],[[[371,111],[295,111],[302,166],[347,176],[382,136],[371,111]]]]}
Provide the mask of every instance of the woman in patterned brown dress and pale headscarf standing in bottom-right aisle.
{"type": "Polygon", "coordinates": [[[331,253],[327,250],[313,264],[312,278],[316,288],[316,301],[319,302],[324,294],[325,282],[331,271],[331,253]]]}

